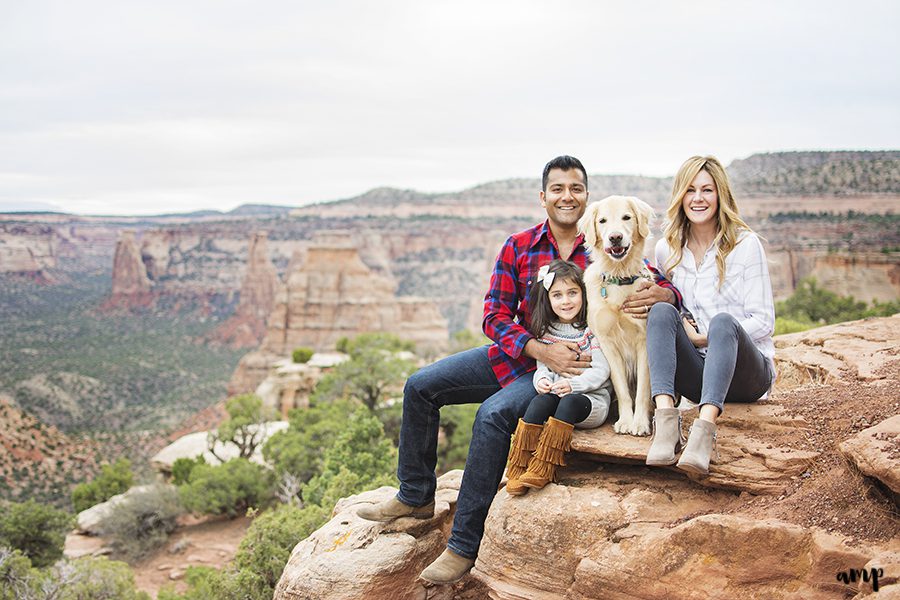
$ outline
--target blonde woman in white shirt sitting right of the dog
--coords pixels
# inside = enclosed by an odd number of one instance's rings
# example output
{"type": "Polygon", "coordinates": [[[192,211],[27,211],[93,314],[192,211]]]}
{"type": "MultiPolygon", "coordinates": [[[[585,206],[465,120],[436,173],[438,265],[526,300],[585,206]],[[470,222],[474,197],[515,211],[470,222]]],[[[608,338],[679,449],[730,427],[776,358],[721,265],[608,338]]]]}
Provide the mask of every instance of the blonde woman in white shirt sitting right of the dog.
{"type": "Polygon", "coordinates": [[[728,176],[712,156],[688,159],[675,176],[656,264],[691,314],[657,303],[647,323],[656,402],[648,465],[671,465],[681,448],[680,394],[700,403],[678,468],[709,472],[725,401],[752,402],[775,378],[775,304],[759,238],[738,215],[728,176]]]}

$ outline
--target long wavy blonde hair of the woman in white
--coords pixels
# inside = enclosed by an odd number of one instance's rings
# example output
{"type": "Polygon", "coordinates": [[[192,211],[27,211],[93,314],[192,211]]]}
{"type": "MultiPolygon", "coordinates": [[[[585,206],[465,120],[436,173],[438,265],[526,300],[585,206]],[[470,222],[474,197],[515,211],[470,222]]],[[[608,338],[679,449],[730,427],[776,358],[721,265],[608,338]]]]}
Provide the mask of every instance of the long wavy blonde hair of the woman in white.
{"type": "Polygon", "coordinates": [[[731,185],[728,183],[728,174],[725,173],[725,167],[714,156],[692,156],[684,161],[678,173],[675,175],[675,182],[672,184],[672,197],[669,200],[669,208],[666,210],[666,226],[664,236],[672,254],[669,260],[663,266],[666,273],[671,276],[672,270],[677,267],[682,258],[684,258],[684,245],[687,242],[688,232],[690,231],[691,222],[684,214],[682,200],[688,187],[694,181],[694,178],[700,171],[706,171],[713,178],[716,184],[716,193],[719,196],[718,208],[716,209],[716,266],[719,272],[719,285],[725,282],[725,258],[737,246],[741,233],[752,231],[750,227],[744,223],[738,214],[737,203],[734,201],[734,195],[731,193],[731,185]]]}

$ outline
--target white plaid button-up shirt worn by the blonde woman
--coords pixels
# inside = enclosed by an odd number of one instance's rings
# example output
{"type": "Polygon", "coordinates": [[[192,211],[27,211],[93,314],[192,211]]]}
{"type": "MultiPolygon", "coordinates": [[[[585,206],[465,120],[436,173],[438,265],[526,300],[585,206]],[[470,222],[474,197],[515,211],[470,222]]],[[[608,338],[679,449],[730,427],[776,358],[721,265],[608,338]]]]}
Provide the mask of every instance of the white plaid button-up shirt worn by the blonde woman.
{"type": "MultiPolygon", "coordinates": [[[[669,245],[665,239],[656,243],[656,264],[662,271],[669,259],[669,245]]],[[[666,274],[669,277],[668,274],[666,274]]],[[[737,246],[725,259],[725,283],[718,289],[719,272],[716,266],[716,247],[710,246],[698,267],[694,254],[684,249],[681,262],[669,280],[684,297],[684,307],[691,311],[706,335],[709,323],[719,313],[733,316],[744,328],[770,363],[775,366],[775,301],[772,282],[762,243],[754,233],[741,236],[737,246]]],[[[706,352],[706,348],[701,349],[706,352]]]]}

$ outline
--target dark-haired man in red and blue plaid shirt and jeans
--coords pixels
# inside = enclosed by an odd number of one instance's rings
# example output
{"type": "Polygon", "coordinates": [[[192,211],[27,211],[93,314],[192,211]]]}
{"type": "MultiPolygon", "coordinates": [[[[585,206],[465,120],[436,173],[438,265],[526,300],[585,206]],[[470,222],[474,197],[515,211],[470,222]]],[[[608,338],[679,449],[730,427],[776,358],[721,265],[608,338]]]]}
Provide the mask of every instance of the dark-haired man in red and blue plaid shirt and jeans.
{"type": "MultiPolygon", "coordinates": [[[[510,435],[535,396],[531,381],[535,359],[556,373],[569,375],[590,366],[590,355],[579,353],[575,344],[541,344],[524,326],[530,315],[528,289],[542,265],[562,258],[586,266],[578,219],[584,214],[588,195],[587,172],[577,158],[559,156],[547,163],[540,193],[547,220],[510,236],[497,256],[484,298],[483,328],[494,344],[444,358],[406,382],[397,467],[400,491],[395,498],[361,508],[358,514],[364,519],[431,517],[437,485],[439,410],[448,404],[481,403],[472,426],[447,549],[422,572],[425,581],[453,583],[475,563],[488,508],[506,466],[510,435]]],[[[663,285],[667,287],[649,284],[634,294],[632,300],[640,302],[628,312],[646,318],[644,304],[676,303],[677,292],[669,289],[668,281],[663,280],[663,285]]]]}

